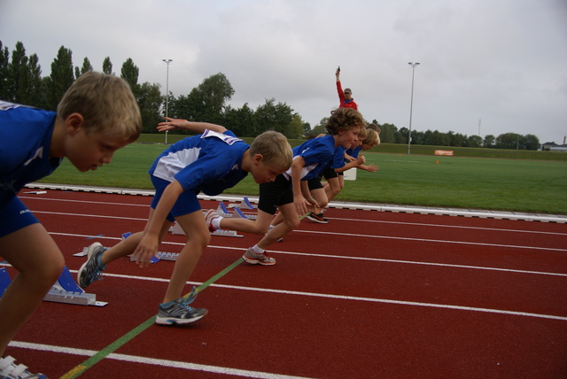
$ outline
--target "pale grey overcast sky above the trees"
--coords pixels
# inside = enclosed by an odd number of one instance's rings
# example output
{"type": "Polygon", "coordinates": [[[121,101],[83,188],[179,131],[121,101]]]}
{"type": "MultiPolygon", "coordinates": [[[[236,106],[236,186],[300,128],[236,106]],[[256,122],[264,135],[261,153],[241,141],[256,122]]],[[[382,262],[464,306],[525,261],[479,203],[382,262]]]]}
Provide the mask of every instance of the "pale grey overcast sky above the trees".
{"type": "MultiPolygon", "coordinates": [[[[215,73],[230,104],[286,103],[315,126],[335,70],[366,120],[464,135],[567,135],[566,0],[0,0],[0,41],[43,75],[61,46],[102,71],[132,58],[175,97],[215,73]]],[[[206,120],[203,120],[206,121],[206,120]]]]}

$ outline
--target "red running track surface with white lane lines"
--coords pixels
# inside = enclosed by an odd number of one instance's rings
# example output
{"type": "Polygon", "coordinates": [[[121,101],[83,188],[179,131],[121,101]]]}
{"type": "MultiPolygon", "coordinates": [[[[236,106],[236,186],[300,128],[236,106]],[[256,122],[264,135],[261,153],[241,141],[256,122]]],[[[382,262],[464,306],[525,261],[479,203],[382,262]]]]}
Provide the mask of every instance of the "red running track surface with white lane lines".
{"type": "MultiPolygon", "coordinates": [[[[73,275],[84,262],[74,253],[142,230],[151,202],[26,192],[20,197],[73,275]]],[[[567,376],[567,225],[343,209],[325,214],[329,224],[303,220],[273,246],[276,266],[242,263],[206,287],[194,306],[209,313],[189,327],[151,324],[173,262],[141,269],[120,259],[87,290],[107,306],[44,301],[6,353],[51,378],[73,377],[93,355],[102,358],[86,364],[80,377],[567,376]],[[124,344],[108,347],[116,342],[124,344]]],[[[169,235],[160,250],[178,252],[184,239],[169,235]]],[[[259,239],[213,236],[186,291],[259,239]]],[[[6,268],[12,278],[17,274],[6,268]]]]}

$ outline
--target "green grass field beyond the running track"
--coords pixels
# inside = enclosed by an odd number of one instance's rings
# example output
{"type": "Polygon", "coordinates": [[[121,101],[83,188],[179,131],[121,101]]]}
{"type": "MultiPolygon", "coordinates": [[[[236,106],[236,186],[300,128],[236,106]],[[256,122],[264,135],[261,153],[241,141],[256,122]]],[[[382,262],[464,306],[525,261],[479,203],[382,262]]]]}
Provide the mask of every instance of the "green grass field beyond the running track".
{"type": "MultiPolygon", "coordinates": [[[[134,143],[117,151],[113,163],[80,173],[67,160],[41,182],[152,189],[148,168],[163,144],[134,143]]],[[[567,162],[522,159],[435,157],[367,152],[376,174],[357,171],[335,200],[530,213],[567,213],[567,162]],[[436,163],[439,161],[439,163],[436,163]]],[[[251,175],[225,193],[254,196],[251,175]]]]}

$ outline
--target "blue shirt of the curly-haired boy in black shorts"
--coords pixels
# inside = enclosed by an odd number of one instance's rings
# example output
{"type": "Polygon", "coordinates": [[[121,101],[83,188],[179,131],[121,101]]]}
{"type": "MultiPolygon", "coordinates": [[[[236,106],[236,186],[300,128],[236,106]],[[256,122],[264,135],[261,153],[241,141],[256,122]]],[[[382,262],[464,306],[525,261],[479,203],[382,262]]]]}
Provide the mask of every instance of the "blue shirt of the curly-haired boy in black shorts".
{"type": "MultiPolygon", "coordinates": [[[[335,138],[332,135],[313,138],[294,147],[293,158],[303,157],[305,160],[305,166],[301,169],[301,180],[308,181],[319,177],[319,174],[333,161],[335,150],[335,138]]],[[[344,152],[343,148],[343,154],[344,152]]],[[[290,180],[291,168],[283,174],[290,180]]]]}

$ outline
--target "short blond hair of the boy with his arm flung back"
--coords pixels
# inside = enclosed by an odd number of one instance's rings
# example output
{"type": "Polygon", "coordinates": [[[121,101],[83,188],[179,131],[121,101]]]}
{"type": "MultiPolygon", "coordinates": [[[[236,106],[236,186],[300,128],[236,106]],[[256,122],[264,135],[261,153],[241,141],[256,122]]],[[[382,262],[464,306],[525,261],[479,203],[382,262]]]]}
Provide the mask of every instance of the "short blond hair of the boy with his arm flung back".
{"type": "Polygon", "coordinates": [[[250,145],[250,155],[261,154],[266,166],[275,166],[282,171],[291,167],[293,151],[285,135],[268,130],[258,135],[250,145]]]}

